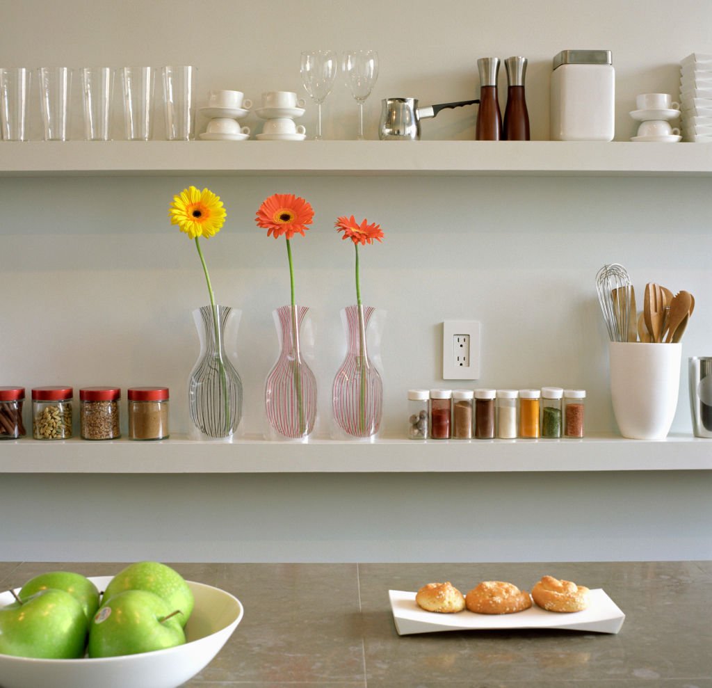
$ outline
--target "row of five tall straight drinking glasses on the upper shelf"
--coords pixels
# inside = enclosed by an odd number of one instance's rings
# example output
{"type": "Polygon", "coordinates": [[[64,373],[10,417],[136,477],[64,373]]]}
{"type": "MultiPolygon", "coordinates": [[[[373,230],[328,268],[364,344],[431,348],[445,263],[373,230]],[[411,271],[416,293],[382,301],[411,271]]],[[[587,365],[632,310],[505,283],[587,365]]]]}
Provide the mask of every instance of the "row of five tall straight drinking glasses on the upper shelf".
{"type": "MultiPolygon", "coordinates": [[[[121,81],[125,136],[130,141],[152,137],[155,80],[160,73],[168,140],[189,140],[194,130],[196,68],[190,66],[84,67],[78,70],[88,141],[110,140],[110,120],[115,74],[121,81]]],[[[71,93],[75,70],[41,67],[37,70],[44,140],[70,138],[71,93]]],[[[7,141],[28,139],[28,102],[31,70],[0,68],[0,125],[7,141]]]]}

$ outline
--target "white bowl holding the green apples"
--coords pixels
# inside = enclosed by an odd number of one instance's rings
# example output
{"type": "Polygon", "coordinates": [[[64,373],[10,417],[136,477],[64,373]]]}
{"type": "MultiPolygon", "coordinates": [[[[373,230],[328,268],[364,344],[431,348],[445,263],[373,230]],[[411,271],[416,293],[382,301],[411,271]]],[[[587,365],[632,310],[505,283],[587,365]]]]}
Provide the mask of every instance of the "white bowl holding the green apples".
{"type": "MultiPolygon", "coordinates": [[[[104,590],[110,575],[89,580],[104,590]]],[[[168,650],[103,659],[35,660],[0,655],[2,688],[177,688],[206,667],[242,620],[240,600],[219,588],[187,581],[195,607],[185,627],[186,643],[168,650]]],[[[19,592],[19,588],[16,590],[19,592]]],[[[0,605],[13,601],[0,593],[0,605]]]]}

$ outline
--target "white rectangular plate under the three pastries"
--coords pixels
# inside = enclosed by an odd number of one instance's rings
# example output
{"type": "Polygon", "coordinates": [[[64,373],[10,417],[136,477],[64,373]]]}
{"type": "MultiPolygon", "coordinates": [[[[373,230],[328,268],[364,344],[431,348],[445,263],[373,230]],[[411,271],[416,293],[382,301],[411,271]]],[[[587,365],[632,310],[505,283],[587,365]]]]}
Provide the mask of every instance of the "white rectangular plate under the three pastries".
{"type": "Polygon", "coordinates": [[[389,590],[393,621],[398,635],[436,633],[448,630],[512,630],[559,628],[598,633],[617,633],[625,619],[618,605],[601,588],[591,590],[591,604],[582,612],[547,612],[537,605],[516,614],[456,614],[426,612],[415,602],[415,593],[389,590]]]}

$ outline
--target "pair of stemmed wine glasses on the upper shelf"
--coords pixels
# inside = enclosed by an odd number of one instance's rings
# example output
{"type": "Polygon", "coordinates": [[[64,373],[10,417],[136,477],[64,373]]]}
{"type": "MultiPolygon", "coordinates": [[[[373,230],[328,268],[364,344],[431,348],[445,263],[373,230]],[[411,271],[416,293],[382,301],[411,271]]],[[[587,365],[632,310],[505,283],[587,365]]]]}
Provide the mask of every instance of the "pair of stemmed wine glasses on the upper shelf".
{"type": "MultiPolygon", "coordinates": [[[[310,98],[316,103],[316,133],[321,135],[321,105],[331,93],[337,71],[339,58],[333,50],[313,50],[302,53],[301,75],[302,83],[310,98]]],[[[357,140],[363,140],[363,104],[371,95],[378,79],[378,53],[374,50],[352,50],[342,55],[341,71],[345,84],[351,90],[351,95],[358,103],[357,140]]]]}

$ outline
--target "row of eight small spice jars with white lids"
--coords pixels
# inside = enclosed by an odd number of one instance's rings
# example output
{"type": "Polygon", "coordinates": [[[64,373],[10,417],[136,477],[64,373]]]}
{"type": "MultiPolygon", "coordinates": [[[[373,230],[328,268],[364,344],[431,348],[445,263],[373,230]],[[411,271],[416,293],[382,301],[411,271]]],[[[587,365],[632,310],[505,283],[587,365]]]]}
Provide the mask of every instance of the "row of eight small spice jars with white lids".
{"type": "Polygon", "coordinates": [[[585,390],[409,390],[410,439],[583,437],[585,390]]]}

